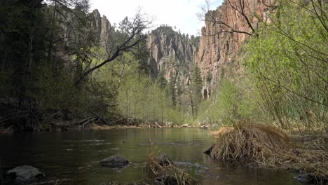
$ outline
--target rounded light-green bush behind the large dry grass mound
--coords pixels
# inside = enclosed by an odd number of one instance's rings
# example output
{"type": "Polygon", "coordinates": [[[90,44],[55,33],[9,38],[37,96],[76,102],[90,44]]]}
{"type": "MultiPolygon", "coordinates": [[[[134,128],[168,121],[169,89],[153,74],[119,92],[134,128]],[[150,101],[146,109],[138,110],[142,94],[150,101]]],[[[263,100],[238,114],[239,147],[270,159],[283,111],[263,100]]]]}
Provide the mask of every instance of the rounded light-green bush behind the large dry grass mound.
{"type": "Polygon", "coordinates": [[[247,92],[245,80],[235,83],[221,79],[214,90],[212,100],[200,104],[202,110],[198,116],[200,123],[217,123],[231,125],[239,121],[259,121],[259,107],[252,93],[247,92]]]}

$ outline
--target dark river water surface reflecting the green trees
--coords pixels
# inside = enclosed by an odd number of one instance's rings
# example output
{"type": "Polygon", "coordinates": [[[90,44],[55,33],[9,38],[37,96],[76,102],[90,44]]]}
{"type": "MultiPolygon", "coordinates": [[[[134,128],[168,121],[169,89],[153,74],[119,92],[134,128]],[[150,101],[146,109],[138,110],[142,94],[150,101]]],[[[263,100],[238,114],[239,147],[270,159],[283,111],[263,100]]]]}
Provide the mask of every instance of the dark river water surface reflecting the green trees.
{"type": "MultiPolygon", "coordinates": [[[[181,167],[196,166],[202,184],[298,184],[294,174],[222,165],[203,154],[214,142],[198,128],[149,128],[14,133],[0,135],[2,172],[32,165],[46,179],[77,179],[78,184],[128,183],[146,179],[149,141],[181,167]],[[122,154],[132,163],[123,170],[102,167],[100,160],[122,154]]],[[[191,167],[187,167],[191,169],[191,167]]]]}

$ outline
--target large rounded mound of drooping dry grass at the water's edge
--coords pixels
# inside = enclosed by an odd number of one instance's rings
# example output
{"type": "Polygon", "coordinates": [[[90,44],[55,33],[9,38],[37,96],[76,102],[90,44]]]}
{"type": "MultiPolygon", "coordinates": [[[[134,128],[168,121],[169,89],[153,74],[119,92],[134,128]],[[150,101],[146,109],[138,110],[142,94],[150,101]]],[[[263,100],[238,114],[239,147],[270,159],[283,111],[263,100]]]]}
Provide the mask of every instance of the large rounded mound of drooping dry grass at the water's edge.
{"type": "Polygon", "coordinates": [[[223,161],[266,163],[273,153],[291,146],[289,136],[272,125],[239,123],[220,128],[217,134],[211,156],[223,161]]]}

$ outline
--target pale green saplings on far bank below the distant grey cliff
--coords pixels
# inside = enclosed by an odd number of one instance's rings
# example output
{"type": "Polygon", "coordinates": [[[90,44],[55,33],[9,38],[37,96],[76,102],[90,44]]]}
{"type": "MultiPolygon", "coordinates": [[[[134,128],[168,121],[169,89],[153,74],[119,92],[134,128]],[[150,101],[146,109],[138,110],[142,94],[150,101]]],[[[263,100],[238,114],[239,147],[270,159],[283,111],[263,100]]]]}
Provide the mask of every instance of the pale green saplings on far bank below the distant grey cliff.
{"type": "Polygon", "coordinates": [[[125,118],[142,123],[184,123],[183,114],[171,107],[165,91],[145,76],[125,76],[118,92],[118,109],[125,118]]]}

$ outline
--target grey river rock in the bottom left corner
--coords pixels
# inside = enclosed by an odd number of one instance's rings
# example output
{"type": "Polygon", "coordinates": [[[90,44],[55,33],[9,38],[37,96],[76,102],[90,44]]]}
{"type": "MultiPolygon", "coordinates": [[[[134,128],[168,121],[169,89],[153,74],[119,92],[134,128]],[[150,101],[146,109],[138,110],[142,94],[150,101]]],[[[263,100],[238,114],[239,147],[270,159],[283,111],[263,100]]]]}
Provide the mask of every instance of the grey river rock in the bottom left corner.
{"type": "Polygon", "coordinates": [[[44,177],[44,174],[30,165],[21,165],[9,170],[7,176],[18,182],[25,182],[40,179],[44,177]]]}

